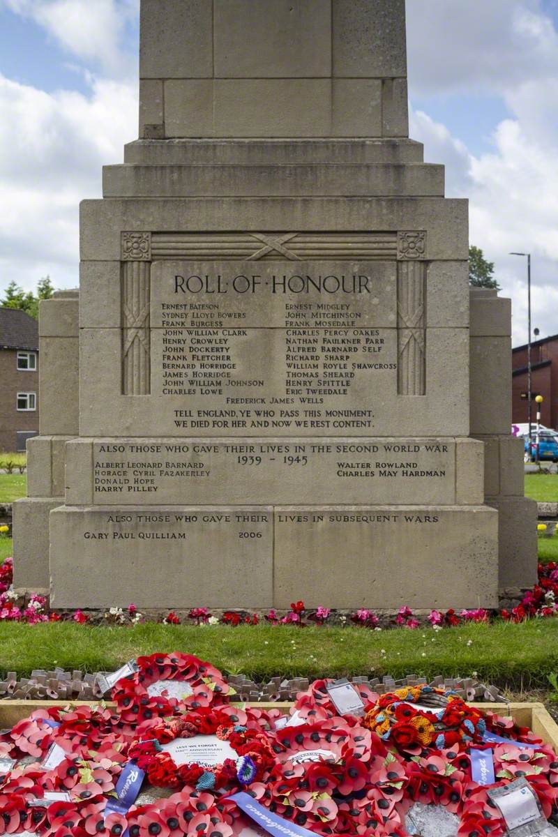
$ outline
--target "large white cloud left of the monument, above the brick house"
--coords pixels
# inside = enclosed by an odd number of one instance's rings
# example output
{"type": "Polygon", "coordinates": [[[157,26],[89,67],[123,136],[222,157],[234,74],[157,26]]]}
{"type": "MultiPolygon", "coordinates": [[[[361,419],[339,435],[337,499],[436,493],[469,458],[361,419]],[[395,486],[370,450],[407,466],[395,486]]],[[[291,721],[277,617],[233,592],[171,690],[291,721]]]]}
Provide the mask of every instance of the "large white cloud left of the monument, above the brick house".
{"type": "Polygon", "coordinates": [[[74,287],[79,201],[100,197],[102,166],[136,136],[136,89],[96,80],[89,97],[50,95],[0,76],[0,112],[0,285],[49,273],[74,287]]]}

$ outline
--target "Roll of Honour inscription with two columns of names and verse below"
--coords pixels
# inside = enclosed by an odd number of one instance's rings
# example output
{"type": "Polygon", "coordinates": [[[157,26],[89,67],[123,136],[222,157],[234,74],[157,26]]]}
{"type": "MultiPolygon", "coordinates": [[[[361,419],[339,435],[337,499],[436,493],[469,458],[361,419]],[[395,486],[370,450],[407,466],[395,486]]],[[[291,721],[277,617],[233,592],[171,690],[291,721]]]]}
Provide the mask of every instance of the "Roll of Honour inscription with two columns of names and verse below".
{"type": "Polygon", "coordinates": [[[153,265],[151,395],[185,402],[172,410],[185,435],[371,434],[387,419],[401,390],[397,264],[293,268],[153,265]]]}

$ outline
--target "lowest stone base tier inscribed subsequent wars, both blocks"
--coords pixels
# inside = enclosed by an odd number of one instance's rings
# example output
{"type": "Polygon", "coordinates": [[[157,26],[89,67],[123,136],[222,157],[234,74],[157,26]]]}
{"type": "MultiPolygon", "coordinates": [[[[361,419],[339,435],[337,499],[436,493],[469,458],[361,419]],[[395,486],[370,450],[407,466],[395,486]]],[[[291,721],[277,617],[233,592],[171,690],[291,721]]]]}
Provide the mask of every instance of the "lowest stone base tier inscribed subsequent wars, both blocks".
{"type": "Polygon", "coordinates": [[[61,506],[50,537],[53,608],[498,606],[488,506],[61,506]]]}

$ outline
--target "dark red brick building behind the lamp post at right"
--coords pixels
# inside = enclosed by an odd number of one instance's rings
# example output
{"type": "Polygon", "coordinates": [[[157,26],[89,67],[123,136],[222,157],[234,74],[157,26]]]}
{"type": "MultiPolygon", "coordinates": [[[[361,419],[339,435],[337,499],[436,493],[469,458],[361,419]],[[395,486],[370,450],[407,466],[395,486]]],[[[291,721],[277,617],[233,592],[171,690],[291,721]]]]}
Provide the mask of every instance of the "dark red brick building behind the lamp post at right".
{"type": "MultiPolygon", "coordinates": [[[[531,391],[545,399],[540,420],[545,427],[558,429],[558,334],[531,343],[531,391]]],[[[527,346],[512,350],[512,419],[514,424],[528,421],[527,346]],[[525,393],[525,398],[522,398],[525,393]]],[[[536,404],[532,408],[533,421],[536,404]]]]}

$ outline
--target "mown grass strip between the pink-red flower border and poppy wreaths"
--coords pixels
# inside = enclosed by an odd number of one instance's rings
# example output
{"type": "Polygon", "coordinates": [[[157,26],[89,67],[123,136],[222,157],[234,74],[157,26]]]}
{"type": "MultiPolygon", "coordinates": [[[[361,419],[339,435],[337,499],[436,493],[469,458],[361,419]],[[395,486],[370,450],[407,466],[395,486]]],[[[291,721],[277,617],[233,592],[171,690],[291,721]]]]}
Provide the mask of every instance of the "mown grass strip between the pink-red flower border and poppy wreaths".
{"type": "Polygon", "coordinates": [[[558,619],[463,628],[274,628],[141,624],[100,628],[59,623],[0,624],[0,673],[33,668],[115,670],[125,660],[181,650],[256,680],[273,675],[478,676],[515,690],[547,686],[558,670],[558,619]],[[476,672],[476,675],[474,675],[476,672]]]}

